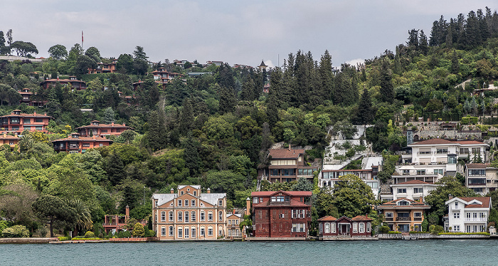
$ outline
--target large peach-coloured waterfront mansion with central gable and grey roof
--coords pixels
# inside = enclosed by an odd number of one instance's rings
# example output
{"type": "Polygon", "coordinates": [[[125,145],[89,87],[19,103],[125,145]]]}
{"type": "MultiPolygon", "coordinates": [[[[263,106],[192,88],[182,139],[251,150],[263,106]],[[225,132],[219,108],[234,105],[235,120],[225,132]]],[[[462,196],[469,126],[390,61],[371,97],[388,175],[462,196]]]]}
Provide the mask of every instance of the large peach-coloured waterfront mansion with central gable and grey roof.
{"type": "Polygon", "coordinates": [[[152,195],[152,228],[159,240],[225,238],[226,193],[202,193],[201,186],[178,186],[178,192],[152,195]]]}

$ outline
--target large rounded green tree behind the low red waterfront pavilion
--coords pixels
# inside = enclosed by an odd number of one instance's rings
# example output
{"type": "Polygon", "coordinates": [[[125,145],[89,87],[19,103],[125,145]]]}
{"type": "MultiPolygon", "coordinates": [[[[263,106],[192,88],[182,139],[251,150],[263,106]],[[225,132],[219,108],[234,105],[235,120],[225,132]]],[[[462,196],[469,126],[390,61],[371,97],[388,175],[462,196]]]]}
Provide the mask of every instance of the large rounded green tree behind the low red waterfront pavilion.
{"type": "Polygon", "coordinates": [[[334,206],[340,216],[354,217],[370,213],[375,198],[372,189],[358,176],[339,176],[339,183],[332,190],[334,206]]]}

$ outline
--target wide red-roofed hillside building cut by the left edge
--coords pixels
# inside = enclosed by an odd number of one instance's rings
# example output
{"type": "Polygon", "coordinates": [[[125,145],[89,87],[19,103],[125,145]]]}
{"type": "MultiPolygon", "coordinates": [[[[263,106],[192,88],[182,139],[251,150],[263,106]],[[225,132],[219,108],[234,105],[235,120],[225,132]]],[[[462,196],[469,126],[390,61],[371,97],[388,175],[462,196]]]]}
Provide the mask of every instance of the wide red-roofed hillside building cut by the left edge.
{"type": "Polygon", "coordinates": [[[40,131],[48,133],[48,122],[52,117],[47,114],[41,115],[34,112],[33,114],[23,114],[21,110],[14,110],[11,115],[0,117],[0,132],[21,134],[24,130],[40,131]]]}

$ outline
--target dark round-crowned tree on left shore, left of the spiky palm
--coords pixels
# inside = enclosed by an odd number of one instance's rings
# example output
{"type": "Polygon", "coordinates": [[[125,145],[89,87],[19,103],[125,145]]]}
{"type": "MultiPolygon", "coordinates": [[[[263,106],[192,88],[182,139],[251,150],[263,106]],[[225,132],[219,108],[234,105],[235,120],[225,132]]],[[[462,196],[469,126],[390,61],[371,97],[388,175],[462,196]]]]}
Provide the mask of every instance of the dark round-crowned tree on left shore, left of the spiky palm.
{"type": "Polygon", "coordinates": [[[53,223],[55,220],[66,220],[68,218],[68,206],[65,202],[52,195],[43,195],[33,203],[33,211],[39,216],[48,218],[50,223],[50,236],[53,238],[53,223]]]}

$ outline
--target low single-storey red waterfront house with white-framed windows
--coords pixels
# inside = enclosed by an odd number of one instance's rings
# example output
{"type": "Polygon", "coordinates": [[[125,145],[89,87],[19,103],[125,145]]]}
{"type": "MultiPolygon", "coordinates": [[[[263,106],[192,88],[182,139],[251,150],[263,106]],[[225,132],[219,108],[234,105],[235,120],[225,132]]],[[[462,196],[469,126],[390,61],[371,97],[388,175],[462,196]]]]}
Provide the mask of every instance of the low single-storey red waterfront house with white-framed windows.
{"type": "Polygon", "coordinates": [[[352,219],[346,216],[342,216],[339,219],[332,216],[319,218],[319,239],[330,240],[339,237],[370,237],[372,220],[373,219],[368,216],[355,216],[352,219]]]}

